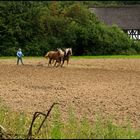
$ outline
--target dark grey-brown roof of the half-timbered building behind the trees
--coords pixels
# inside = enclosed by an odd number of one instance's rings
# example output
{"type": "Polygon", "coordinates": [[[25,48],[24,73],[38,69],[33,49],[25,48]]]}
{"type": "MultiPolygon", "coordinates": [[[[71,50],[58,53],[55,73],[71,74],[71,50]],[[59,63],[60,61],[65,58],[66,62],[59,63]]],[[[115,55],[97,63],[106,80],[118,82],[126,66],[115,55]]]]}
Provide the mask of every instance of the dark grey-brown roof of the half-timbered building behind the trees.
{"type": "Polygon", "coordinates": [[[108,25],[117,24],[122,29],[140,29],[140,5],[89,9],[108,25]]]}

